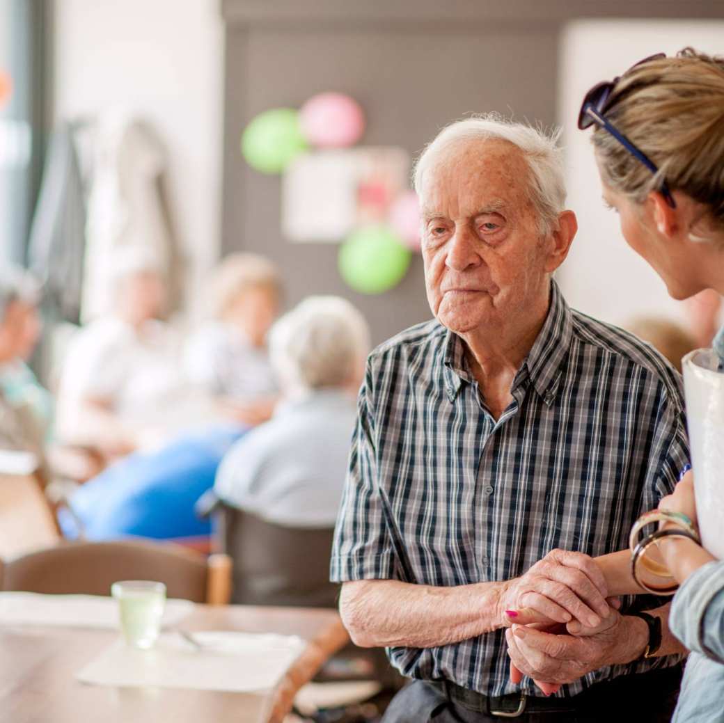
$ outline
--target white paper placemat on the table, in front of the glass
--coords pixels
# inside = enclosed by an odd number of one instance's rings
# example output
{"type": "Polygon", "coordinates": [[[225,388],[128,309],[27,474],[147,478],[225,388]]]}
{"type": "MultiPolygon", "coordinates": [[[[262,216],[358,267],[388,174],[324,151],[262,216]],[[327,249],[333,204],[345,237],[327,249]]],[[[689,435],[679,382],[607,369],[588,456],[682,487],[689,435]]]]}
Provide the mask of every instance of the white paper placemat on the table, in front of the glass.
{"type": "Polygon", "coordinates": [[[305,643],[289,635],[214,631],[193,633],[201,650],[176,633],[163,633],[151,650],[118,640],[75,677],[114,688],[153,686],[226,690],[269,690],[301,654],[305,643]]]}

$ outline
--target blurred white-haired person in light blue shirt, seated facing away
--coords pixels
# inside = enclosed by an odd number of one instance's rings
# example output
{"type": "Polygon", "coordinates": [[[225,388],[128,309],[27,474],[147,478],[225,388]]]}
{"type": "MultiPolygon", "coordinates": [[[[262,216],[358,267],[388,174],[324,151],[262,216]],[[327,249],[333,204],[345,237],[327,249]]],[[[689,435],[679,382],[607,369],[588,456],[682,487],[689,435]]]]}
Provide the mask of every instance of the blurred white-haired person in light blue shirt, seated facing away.
{"type": "Polygon", "coordinates": [[[333,528],[368,326],[348,301],[311,297],[277,321],[269,352],[282,400],[269,422],[224,457],[214,491],[227,505],[271,523],[333,528]]]}

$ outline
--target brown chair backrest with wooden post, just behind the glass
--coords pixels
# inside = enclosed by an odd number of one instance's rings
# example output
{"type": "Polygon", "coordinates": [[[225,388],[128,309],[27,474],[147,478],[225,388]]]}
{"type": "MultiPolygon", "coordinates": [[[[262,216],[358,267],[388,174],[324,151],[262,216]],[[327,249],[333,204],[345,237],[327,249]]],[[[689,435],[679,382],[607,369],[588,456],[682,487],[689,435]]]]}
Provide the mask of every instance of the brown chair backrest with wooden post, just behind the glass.
{"type": "Polygon", "coordinates": [[[158,580],[169,598],[224,605],[231,598],[232,562],[147,540],[72,542],[6,560],[1,589],[109,595],[117,580],[158,580]]]}

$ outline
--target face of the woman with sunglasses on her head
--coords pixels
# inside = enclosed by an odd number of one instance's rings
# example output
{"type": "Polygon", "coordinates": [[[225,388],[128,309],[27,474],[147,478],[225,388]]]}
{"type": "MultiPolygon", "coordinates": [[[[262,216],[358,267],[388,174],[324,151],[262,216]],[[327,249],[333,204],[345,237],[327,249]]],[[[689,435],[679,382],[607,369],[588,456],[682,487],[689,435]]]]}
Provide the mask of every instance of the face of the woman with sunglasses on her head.
{"type": "Polygon", "coordinates": [[[661,276],[670,296],[686,299],[702,291],[696,258],[686,253],[688,245],[674,243],[661,234],[650,208],[613,190],[602,175],[601,190],[606,206],[618,213],[626,243],[661,276]]]}

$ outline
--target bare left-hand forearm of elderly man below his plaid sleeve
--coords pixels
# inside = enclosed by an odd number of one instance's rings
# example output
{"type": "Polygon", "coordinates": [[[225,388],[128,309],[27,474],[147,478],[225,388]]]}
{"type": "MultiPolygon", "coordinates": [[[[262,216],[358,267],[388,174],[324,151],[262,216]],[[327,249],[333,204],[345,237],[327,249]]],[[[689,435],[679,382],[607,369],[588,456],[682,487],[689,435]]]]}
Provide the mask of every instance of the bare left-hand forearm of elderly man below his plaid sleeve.
{"type": "Polygon", "coordinates": [[[340,614],[359,646],[432,648],[501,627],[498,607],[503,585],[438,588],[398,580],[359,580],[342,585],[340,614]]]}

